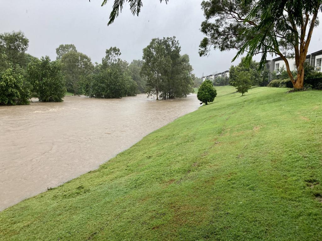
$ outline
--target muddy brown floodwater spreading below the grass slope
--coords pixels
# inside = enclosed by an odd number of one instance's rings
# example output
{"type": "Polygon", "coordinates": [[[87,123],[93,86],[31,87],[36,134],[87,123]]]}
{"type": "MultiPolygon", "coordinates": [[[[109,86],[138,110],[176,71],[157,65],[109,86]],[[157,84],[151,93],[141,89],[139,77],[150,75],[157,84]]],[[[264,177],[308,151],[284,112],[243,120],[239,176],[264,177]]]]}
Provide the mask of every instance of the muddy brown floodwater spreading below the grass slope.
{"type": "Polygon", "coordinates": [[[66,96],[0,106],[0,210],[96,169],[148,133],[199,107],[196,94],[155,101],[66,96]]]}

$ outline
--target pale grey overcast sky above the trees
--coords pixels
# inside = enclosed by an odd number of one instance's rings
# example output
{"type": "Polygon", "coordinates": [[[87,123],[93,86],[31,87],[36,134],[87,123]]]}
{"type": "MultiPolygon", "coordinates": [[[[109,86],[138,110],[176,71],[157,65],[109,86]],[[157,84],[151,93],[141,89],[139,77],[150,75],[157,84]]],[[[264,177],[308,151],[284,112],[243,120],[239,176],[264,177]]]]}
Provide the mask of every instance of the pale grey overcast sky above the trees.
{"type": "MultiPolygon", "coordinates": [[[[27,52],[56,59],[60,44],[73,43],[93,62],[101,62],[105,49],[117,46],[121,58],[131,62],[142,58],[142,49],[152,38],[176,36],[181,54],[190,56],[194,73],[201,77],[223,72],[232,65],[235,50],[212,50],[199,57],[198,46],[204,35],[200,24],[204,15],[202,0],[143,0],[139,16],[133,16],[128,3],[115,22],[107,26],[113,0],[103,7],[102,0],[1,0],[0,32],[21,30],[29,39],[27,52]]],[[[322,18],[319,14],[320,19],[322,18]]],[[[314,30],[308,53],[322,49],[322,24],[314,30]]],[[[259,59],[259,58],[256,58],[259,59]]],[[[233,64],[238,64],[236,60],[233,64]]]]}

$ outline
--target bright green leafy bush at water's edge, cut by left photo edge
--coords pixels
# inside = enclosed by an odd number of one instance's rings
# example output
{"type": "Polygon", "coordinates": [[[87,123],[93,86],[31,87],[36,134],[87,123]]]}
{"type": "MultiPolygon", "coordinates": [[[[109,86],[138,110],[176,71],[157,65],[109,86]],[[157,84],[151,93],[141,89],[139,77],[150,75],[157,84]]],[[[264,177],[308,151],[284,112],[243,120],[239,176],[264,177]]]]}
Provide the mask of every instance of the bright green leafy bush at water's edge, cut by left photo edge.
{"type": "Polygon", "coordinates": [[[0,73],[0,105],[29,104],[32,86],[14,69],[0,73]]]}

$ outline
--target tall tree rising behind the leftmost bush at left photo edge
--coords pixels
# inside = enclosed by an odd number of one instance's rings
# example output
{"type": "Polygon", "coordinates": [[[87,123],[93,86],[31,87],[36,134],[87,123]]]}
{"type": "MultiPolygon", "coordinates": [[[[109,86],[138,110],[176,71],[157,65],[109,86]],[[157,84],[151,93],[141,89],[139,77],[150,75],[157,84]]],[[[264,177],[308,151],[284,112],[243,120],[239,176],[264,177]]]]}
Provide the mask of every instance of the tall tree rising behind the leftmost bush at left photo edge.
{"type": "Polygon", "coordinates": [[[29,40],[22,31],[0,34],[0,67],[4,65],[4,61],[11,64],[13,68],[16,68],[16,65],[23,66],[28,46],[29,40]]]}

